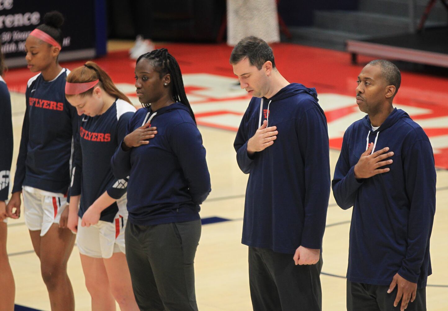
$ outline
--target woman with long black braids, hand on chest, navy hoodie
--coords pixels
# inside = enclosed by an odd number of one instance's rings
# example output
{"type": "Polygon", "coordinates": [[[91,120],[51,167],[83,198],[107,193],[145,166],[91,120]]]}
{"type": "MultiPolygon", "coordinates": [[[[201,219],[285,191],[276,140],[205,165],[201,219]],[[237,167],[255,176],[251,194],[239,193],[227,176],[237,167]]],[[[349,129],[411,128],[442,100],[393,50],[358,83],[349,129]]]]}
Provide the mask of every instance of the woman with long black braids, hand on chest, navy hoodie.
{"type": "Polygon", "coordinates": [[[202,137],[166,48],[138,58],[135,87],[144,108],[112,157],[115,177],[129,176],[125,242],[134,295],[141,310],[198,310],[199,205],[211,191],[202,137]]]}

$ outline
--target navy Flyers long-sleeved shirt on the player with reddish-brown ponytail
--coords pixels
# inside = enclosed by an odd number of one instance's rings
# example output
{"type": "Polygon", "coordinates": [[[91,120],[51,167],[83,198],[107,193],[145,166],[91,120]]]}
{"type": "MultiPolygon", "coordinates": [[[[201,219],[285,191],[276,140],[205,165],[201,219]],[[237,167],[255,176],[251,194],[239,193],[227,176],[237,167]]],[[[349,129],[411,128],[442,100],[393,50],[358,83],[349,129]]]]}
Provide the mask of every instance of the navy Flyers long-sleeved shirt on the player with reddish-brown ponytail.
{"type": "MultiPolygon", "coordinates": [[[[105,191],[116,200],[126,194],[128,179],[114,178],[110,159],[125,137],[134,112],[133,105],[117,99],[103,114],[95,117],[83,114],[79,118],[70,187],[70,195],[81,194],[79,217],[105,191]]],[[[114,202],[101,212],[99,220],[113,222],[117,212],[118,205],[114,202]]]]}

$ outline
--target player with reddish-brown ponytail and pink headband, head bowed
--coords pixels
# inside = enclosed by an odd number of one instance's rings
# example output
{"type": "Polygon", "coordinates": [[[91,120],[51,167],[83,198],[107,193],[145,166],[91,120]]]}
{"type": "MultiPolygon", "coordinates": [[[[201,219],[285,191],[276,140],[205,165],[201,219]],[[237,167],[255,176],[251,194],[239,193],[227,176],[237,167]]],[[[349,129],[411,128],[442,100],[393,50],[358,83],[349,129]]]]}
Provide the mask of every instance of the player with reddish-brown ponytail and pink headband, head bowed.
{"type": "Polygon", "coordinates": [[[79,118],[68,227],[78,232],[92,310],[138,310],[125,257],[127,176],[113,177],[111,158],[135,108],[93,61],[67,76],[65,96],[79,118]],[[79,210],[78,210],[79,206],[79,210]]]}

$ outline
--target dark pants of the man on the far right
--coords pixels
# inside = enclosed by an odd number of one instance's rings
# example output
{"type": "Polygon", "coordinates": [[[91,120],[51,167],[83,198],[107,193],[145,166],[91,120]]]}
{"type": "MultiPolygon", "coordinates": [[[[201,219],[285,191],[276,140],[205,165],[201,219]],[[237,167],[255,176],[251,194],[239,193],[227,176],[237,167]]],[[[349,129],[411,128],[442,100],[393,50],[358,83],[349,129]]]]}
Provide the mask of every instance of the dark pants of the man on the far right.
{"type": "MultiPolygon", "coordinates": [[[[396,307],[393,303],[398,286],[388,293],[389,285],[372,285],[347,280],[347,311],[389,311],[400,310],[401,300],[396,307]]],[[[417,289],[414,302],[410,302],[406,311],[426,311],[426,287],[417,289]]]]}

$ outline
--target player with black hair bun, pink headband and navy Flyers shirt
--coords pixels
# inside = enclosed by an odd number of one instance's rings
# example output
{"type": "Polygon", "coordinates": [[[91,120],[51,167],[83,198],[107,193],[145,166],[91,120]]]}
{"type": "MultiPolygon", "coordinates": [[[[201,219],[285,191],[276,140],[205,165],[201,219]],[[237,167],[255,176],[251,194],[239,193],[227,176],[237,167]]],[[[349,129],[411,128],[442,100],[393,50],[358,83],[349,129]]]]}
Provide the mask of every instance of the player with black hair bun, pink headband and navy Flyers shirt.
{"type": "Polygon", "coordinates": [[[65,207],[78,115],[65,99],[69,70],[58,63],[63,22],[59,12],[45,14],[44,24],[25,42],[28,68],[40,73],[28,81],[26,88],[13,195],[7,206],[8,216],[19,218],[22,193],[25,223],[40,259],[52,311],[74,310],[67,261],[75,236],[66,228],[69,210],[65,207]]]}

